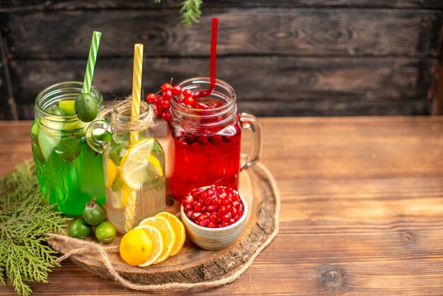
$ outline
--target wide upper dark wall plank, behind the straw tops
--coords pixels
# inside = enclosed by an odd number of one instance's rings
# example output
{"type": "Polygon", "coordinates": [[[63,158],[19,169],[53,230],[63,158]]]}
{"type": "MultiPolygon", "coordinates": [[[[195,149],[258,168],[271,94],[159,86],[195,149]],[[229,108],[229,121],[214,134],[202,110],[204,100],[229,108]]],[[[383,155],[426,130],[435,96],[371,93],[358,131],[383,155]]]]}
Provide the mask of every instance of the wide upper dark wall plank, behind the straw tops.
{"type": "Polygon", "coordinates": [[[145,56],[201,57],[209,56],[212,16],[219,56],[435,57],[442,28],[441,11],[273,8],[205,13],[191,29],[168,10],[9,13],[4,30],[15,59],[86,59],[93,30],[103,33],[98,59],[132,57],[137,42],[145,56]]]}

